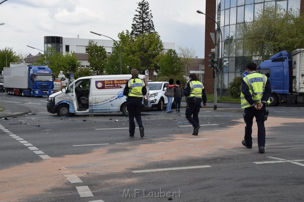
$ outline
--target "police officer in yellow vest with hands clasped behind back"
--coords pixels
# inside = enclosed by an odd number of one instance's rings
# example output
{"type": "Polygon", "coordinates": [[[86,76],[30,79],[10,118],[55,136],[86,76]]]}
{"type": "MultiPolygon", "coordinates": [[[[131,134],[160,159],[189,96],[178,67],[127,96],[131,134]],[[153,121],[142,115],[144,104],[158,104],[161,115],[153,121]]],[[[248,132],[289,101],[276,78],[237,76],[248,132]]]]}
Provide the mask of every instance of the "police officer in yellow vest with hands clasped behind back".
{"type": "Polygon", "coordinates": [[[252,124],[253,118],[257,122],[257,144],[259,152],[265,152],[265,126],[263,115],[271,94],[271,84],[265,75],[257,73],[257,65],[250,62],[246,65],[248,75],[242,79],[241,108],[244,109],[244,121],[246,123],[245,136],[242,144],[252,148],[252,124]]]}

